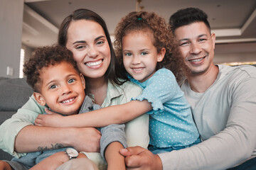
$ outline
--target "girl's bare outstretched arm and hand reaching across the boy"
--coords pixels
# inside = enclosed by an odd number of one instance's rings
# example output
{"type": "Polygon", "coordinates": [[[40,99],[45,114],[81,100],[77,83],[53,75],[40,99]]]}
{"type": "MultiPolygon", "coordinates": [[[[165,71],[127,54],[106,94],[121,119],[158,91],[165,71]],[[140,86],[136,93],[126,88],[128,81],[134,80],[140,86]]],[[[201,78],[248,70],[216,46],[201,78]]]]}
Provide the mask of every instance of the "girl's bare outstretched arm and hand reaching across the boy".
{"type": "Polygon", "coordinates": [[[104,127],[111,124],[127,123],[139,115],[151,111],[151,103],[148,101],[129,101],[121,105],[109,106],[88,113],[61,116],[50,113],[49,115],[38,115],[35,124],[50,127],[104,127]]]}

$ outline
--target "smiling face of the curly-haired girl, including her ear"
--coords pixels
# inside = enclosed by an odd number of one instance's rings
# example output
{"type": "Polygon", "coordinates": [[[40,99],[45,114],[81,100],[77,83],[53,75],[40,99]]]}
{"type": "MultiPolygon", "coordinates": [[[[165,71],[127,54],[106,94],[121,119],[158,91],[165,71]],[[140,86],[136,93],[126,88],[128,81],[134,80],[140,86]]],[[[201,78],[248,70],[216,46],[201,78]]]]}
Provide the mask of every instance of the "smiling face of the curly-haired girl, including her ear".
{"type": "Polygon", "coordinates": [[[164,59],[165,49],[158,53],[152,38],[150,31],[133,31],[122,38],[124,68],[139,82],[149,79],[156,72],[156,63],[164,59]]]}

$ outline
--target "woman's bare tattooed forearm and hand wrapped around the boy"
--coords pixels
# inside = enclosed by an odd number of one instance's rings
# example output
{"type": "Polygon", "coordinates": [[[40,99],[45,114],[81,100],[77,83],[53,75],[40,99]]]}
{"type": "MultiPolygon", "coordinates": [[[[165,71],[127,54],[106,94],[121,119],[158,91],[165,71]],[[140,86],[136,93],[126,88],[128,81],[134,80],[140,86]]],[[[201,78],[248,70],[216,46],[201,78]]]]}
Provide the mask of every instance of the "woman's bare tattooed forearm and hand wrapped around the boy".
{"type": "Polygon", "coordinates": [[[100,132],[95,128],[49,128],[28,125],[16,137],[16,152],[35,152],[61,147],[99,152],[100,132]]]}

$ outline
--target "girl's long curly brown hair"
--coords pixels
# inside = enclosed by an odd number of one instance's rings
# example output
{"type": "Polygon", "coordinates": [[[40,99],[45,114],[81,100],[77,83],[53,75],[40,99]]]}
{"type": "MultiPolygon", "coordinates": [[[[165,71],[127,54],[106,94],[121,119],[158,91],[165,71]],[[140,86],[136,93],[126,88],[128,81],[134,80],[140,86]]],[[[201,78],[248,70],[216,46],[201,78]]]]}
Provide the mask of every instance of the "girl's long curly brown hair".
{"type": "Polygon", "coordinates": [[[157,52],[160,52],[163,47],[166,49],[164,60],[156,64],[156,70],[162,67],[170,69],[174,73],[176,80],[181,81],[183,79],[183,69],[186,68],[186,65],[178,51],[178,43],[171,32],[169,24],[154,12],[131,12],[117,24],[114,33],[114,47],[116,48],[119,64],[124,68],[122,38],[133,31],[150,31],[153,33],[154,40],[152,43],[157,52]]]}

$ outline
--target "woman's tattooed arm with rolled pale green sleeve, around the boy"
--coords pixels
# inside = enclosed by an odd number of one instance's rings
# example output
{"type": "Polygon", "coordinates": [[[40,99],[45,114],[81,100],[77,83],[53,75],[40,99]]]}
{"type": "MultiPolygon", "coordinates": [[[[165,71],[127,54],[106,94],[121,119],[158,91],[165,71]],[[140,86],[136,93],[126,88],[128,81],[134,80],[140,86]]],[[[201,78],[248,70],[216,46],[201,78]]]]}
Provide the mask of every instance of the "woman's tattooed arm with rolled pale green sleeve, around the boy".
{"type": "Polygon", "coordinates": [[[44,107],[33,97],[0,126],[0,149],[16,157],[22,152],[36,152],[50,147],[75,147],[78,150],[99,152],[100,132],[95,128],[46,128],[33,125],[44,107]],[[33,140],[32,140],[33,139],[33,140]],[[14,149],[15,146],[15,149],[14,149]]]}

